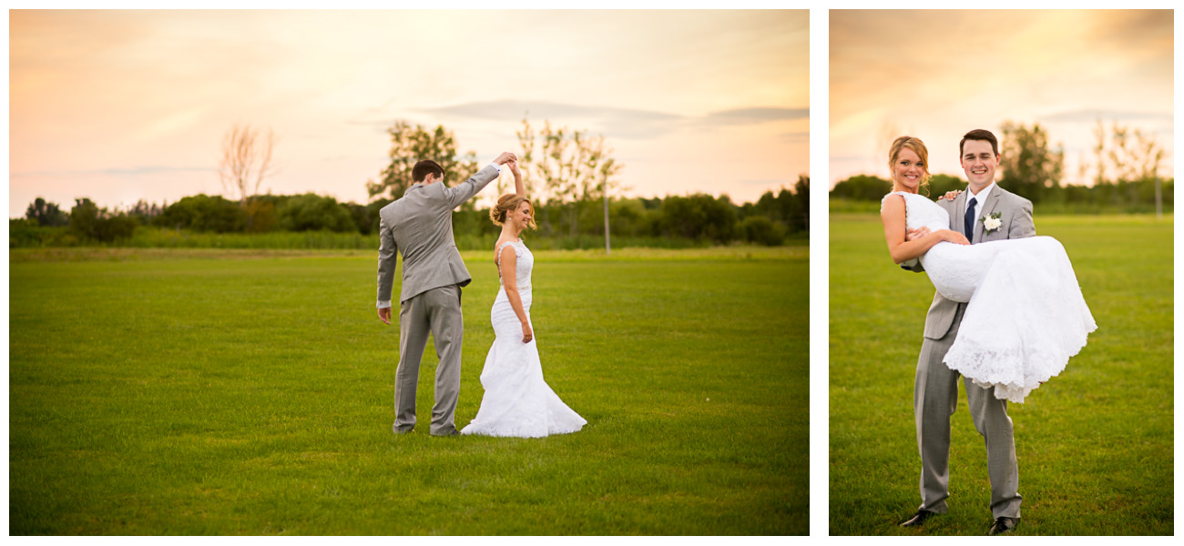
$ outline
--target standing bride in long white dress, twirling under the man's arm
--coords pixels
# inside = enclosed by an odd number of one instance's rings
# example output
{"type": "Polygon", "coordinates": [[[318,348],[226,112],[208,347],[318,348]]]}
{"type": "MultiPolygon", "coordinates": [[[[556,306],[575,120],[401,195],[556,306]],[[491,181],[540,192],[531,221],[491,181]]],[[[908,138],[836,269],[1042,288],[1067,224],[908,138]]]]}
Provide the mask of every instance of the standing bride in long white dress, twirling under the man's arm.
{"type": "Polygon", "coordinates": [[[485,395],[477,416],[461,434],[484,436],[540,437],[580,430],[587,421],[564,404],[542,379],[542,363],[530,324],[530,269],[534,254],[520,235],[534,228],[534,208],[526,195],[517,162],[510,162],[515,194],[497,200],[490,210],[502,234],[494,246],[494,260],[501,287],[489,319],[494,345],[481,371],[485,395]]]}

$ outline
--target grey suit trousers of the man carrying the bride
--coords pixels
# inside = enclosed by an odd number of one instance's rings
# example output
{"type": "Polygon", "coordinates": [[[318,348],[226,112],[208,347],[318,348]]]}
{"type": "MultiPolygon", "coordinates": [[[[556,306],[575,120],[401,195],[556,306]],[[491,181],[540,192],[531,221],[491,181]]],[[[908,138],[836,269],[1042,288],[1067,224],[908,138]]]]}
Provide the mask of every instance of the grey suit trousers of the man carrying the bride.
{"type": "MultiPolygon", "coordinates": [[[[921,451],[920,509],[944,514],[950,496],[950,417],[958,408],[958,377],[941,362],[954,344],[966,304],[959,304],[953,326],[941,339],[925,338],[916,363],[913,408],[916,416],[916,446],[921,451]]],[[[974,428],[986,441],[986,469],[991,479],[991,514],[1019,518],[1019,469],[1012,440],[1008,402],[995,397],[995,388],[984,389],[963,381],[974,428]]]]}

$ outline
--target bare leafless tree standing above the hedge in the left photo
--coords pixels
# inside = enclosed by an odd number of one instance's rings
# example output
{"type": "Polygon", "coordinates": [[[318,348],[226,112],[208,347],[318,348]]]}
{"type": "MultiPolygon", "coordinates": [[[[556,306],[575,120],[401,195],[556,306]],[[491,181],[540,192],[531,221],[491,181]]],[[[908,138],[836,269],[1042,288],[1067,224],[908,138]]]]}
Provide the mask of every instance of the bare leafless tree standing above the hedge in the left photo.
{"type": "Polygon", "coordinates": [[[262,135],[250,125],[239,124],[234,124],[223,137],[218,177],[221,178],[223,190],[238,193],[244,209],[246,200],[259,193],[263,178],[276,174],[276,167],[271,164],[275,141],[275,131],[270,128],[266,135],[262,135]]]}

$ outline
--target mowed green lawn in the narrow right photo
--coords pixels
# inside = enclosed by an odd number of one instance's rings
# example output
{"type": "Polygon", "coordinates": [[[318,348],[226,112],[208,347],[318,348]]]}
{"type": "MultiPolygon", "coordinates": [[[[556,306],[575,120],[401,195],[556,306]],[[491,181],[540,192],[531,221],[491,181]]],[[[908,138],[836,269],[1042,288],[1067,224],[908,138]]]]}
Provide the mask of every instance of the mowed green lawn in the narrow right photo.
{"type": "MultiPolygon", "coordinates": [[[[1018,534],[1172,534],[1172,221],[1041,216],[1066,247],[1099,329],[1068,368],[1009,404],[1018,534]]],[[[877,215],[830,220],[830,532],[983,534],[982,436],[959,384],[950,512],[920,529],[913,379],[933,286],[895,266],[877,215]]]]}

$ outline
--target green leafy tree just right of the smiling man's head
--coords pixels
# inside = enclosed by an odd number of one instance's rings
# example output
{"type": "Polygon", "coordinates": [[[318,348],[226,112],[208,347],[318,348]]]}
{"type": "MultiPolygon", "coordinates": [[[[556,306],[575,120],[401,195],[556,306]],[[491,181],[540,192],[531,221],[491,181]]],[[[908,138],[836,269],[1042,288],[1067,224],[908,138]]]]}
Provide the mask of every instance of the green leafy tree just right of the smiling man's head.
{"type": "Polygon", "coordinates": [[[999,184],[1028,197],[1034,203],[1063,199],[1061,175],[1064,170],[1064,150],[1049,144],[1048,132],[1032,124],[1005,122],[999,150],[999,184]]]}

